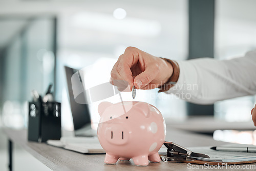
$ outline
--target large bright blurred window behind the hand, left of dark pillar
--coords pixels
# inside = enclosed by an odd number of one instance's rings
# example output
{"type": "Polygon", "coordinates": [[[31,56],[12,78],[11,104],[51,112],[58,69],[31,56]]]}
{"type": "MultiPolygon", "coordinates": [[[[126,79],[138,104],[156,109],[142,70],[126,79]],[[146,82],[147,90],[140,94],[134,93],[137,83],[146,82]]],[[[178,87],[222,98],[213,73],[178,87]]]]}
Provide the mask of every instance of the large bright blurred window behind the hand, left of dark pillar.
{"type": "MultiPolygon", "coordinates": [[[[93,65],[86,83],[103,83],[109,81],[114,63],[129,46],[159,57],[187,58],[187,1],[138,2],[136,6],[123,3],[120,7],[77,10],[59,16],[56,97],[64,102],[62,116],[67,118],[67,124],[72,121],[63,66],[82,69],[93,65]]],[[[186,116],[184,101],[158,94],[157,90],[138,90],[135,99],[132,93],[122,93],[122,97],[156,105],[167,120],[183,120],[186,116]]],[[[120,97],[104,100],[118,102],[120,97]]],[[[91,118],[96,122],[98,103],[90,105],[91,118]]]]}

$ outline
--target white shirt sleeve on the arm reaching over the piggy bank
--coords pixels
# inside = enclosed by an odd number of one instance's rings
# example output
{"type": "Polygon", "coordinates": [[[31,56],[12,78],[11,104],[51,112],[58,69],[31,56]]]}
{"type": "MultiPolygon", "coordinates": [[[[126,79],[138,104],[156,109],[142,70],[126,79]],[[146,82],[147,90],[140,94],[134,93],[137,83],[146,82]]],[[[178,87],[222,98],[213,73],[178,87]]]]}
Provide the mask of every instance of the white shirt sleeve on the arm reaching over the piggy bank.
{"type": "Polygon", "coordinates": [[[256,94],[256,50],[231,60],[198,58],[177,62],[179,79],[166,93],[197,104],[256,94]]]}

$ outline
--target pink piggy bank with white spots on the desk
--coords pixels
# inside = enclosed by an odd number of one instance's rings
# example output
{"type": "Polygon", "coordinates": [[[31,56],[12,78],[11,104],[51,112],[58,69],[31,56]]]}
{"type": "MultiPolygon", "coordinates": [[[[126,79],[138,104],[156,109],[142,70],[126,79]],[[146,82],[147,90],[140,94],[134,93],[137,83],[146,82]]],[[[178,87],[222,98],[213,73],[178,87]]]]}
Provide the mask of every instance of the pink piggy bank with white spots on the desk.
{"type": "Polygon", "coordinates": [[[133,159],[146,166],[160,162],[158,151],[164,143],[166,125],[160,111],[145,102],[101,102],[98,138],[106,152],[104,162],[133,159]]]}

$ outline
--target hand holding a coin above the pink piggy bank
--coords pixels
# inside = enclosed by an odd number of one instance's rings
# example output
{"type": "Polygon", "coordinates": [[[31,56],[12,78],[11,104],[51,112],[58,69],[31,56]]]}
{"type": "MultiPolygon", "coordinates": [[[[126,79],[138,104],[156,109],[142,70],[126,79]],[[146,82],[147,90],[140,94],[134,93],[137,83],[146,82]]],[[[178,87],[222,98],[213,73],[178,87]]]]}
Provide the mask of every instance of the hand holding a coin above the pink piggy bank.
{"type": "Polygon", "coordinates": [[[118,86],[114,80],[129,83],[129,90],[155,89],[164,84],[173,74],[173,67],[165,60],[143,52],[134,47],[125,49],[111,71],[110,82],[118,86]]]}

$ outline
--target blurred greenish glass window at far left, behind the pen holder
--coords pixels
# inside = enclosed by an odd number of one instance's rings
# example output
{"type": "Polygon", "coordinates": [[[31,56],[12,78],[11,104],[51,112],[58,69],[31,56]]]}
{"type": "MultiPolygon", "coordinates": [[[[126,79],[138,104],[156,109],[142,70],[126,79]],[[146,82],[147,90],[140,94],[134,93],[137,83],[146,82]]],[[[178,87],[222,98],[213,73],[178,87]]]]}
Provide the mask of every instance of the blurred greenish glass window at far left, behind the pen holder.
{"type": "Polygon", "coordinates": [[[1,107],[3,123],[27,125],[31,91],[44,94],[54,83],[53,18],[3,16],[1,26],[1,107]]]}

